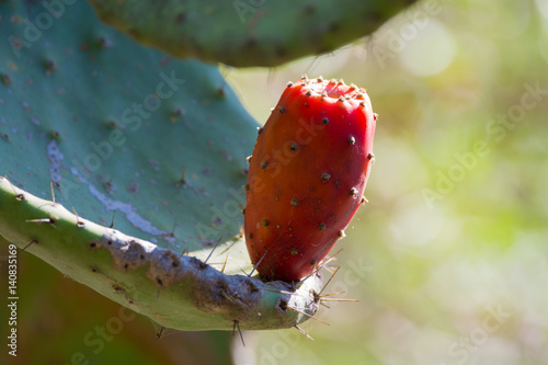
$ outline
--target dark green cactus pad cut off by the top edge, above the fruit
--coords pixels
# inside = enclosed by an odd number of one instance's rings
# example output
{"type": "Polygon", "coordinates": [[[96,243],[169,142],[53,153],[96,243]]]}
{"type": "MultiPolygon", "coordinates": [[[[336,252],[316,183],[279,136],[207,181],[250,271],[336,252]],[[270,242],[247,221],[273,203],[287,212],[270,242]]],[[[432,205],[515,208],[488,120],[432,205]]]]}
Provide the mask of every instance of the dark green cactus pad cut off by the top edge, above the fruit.
{"type": "Polygon", "coordinates": [[[415,0],[90,0],[101,19],[179,57],[278,66],[331,52],[415,0]]]}

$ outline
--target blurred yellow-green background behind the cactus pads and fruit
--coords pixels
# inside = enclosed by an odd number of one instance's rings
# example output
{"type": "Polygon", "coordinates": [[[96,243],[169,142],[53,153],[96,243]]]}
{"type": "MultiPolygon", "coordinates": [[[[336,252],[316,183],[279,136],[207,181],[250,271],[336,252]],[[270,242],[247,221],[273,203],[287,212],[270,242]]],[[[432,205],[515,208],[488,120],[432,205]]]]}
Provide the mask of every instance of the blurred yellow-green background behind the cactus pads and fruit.
{"type": "Polygon", "coordinates": [[[229,346],[237,364],[548,363],[548,1],[425,1],[330,55],[224,72],[260,123],[304,72],[368,90],[369,203],[326,289],[359,301],[322,307],[331,326],[302,326],[313,342],[296,330],[247,332],[246,347],[231,333],[156,340],[148,320],[121,320],[21,253],[11,363],[230,364],[229,346]],[[83,339],[107,326],[116,334],[95,353],[83,339]]]}

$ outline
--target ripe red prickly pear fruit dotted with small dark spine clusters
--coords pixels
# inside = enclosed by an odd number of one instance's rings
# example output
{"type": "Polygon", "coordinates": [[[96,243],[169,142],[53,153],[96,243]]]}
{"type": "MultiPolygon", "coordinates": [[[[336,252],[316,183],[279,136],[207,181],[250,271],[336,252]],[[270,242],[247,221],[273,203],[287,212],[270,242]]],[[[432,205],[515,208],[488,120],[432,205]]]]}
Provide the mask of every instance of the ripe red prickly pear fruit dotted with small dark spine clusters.
{"type": "Polygon", "coordinates": [[[374,162],[376,114],[364,89],[342,80],[287,84],[249,159],[246,243],[269,280],[318,266],[361,203],[374,162]]]}

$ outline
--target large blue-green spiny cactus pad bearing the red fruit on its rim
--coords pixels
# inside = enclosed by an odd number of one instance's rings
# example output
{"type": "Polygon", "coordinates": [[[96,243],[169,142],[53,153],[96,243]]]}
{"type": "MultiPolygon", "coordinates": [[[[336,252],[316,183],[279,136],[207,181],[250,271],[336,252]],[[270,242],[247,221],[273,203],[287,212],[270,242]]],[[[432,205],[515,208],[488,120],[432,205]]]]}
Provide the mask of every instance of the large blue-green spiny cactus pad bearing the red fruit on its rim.
{"type": "Polygon", "coordinates": [[[290,287],[242,274],[256,124],[215,67],[144,47],[81,1],[0,14],[3,239],[168,328],[313,315],[316,275],[290,287]]]}

